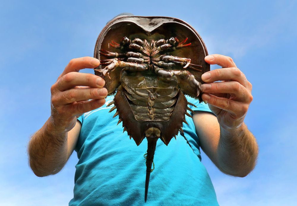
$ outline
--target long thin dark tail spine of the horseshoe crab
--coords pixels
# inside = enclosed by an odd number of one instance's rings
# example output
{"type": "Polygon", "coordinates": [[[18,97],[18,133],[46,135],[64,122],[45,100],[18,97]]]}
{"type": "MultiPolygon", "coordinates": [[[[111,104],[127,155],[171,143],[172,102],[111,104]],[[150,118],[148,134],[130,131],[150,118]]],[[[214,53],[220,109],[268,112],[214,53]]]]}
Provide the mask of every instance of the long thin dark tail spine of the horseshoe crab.
{"type": "Polygon", "coordinates": [[[157,140],[158,137],[149,137],[148,140],[148,150],[147,150],[147,156],[146,156],[146,186],[145,186],[145,194],[144,194],[144,202],[146,202],[147,195],[148,195],[148,189],[149,189],[149,178],[151,176],[151,172],[154,169],[151,169],[151,165],[153,164],[154,168],[154,154],[156,150],[157,140]]]}

